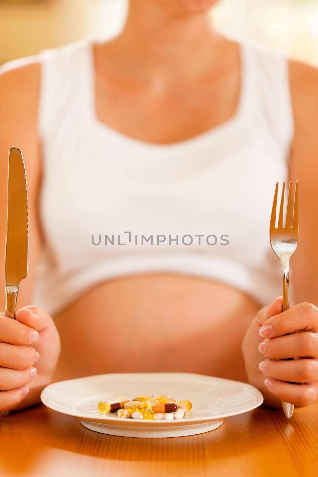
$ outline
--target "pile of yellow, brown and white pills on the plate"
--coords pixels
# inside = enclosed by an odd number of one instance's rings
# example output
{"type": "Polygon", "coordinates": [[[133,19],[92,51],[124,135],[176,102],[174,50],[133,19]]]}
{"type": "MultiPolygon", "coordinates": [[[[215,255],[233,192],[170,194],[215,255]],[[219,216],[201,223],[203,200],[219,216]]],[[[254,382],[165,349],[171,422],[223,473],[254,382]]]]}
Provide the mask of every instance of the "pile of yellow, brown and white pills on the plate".
{"type": "Polygon", "coordinates": [[[156,396],[141,395],[129,399],[126,396],[118,396],[115,403],[101,401],[97,409],[102,415],[117,412],[118,417],[127,419],[154,419],[172,421],[182,419],[192,409],[192,403],[188,399],[175,401],[164,394],[156,396]]]}

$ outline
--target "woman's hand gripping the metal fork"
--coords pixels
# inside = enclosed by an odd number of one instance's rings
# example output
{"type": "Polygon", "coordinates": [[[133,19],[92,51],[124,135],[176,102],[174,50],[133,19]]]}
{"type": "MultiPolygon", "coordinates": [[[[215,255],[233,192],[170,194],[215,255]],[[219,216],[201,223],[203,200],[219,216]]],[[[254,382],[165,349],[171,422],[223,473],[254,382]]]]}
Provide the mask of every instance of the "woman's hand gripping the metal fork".
{"type": "Polygon", "coordinates": [[[246,332],[242,350],[248,381],[263,393],[264,404],[307,406],[318,399],[318,308],[311,303],[282,307],[278,297],[257,313],[246,332]]]}

